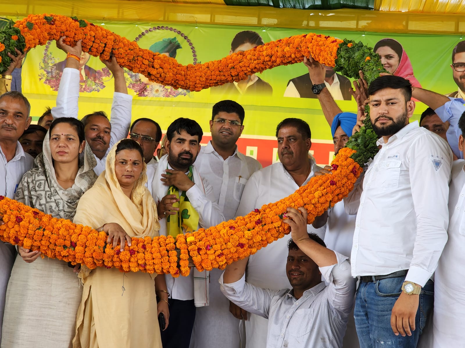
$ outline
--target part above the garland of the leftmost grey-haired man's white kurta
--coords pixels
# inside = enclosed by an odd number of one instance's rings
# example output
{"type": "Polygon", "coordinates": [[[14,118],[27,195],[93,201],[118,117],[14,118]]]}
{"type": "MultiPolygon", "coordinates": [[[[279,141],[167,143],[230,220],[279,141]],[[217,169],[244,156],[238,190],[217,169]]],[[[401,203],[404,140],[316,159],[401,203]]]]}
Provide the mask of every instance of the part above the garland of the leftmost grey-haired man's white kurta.
{"type": "Polygon", "coordinates": [[[13,159],[8,162],[0,147],[0,195],[13,199],[18,184],[33,163],[33,157],[23,151],[20,142],[16,144],[13,159]]]}

